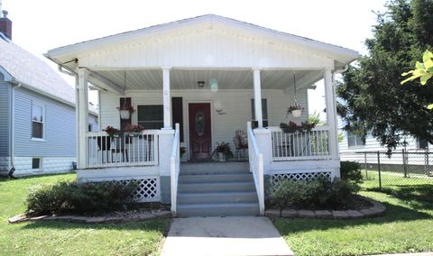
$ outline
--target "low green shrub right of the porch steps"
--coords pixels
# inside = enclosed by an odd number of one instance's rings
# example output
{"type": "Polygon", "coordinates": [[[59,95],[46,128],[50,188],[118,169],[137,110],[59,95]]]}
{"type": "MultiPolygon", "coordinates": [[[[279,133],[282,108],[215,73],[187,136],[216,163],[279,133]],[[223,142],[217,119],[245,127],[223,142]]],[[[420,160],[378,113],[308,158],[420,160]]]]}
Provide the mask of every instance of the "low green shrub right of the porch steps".
{"type": "Polygon", "coordinates": [[[338,209],[351,205],[360,187],[352,181],[335,178],[281,180],[271,191],[272,206],[282,208],[338,209]]]}

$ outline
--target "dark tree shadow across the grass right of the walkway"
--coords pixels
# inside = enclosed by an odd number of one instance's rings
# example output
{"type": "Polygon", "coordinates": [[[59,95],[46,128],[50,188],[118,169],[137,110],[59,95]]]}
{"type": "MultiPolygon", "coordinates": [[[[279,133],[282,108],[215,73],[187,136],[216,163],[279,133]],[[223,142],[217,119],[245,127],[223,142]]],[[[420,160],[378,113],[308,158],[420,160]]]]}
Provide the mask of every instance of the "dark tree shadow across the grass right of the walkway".
{"type": "Polygon", "coordinates": [[[331,228],[355,227],[366,224],[389,224],[433,219],[433,215],[428,215],[414,209],[384,202],[382,204],[386,206],[386,214],[380,217],[359,220],[279,219],[275,221],[275,225],[278,227],[281,235],[285,236],[294,232],[326,231],[331,228]]]}

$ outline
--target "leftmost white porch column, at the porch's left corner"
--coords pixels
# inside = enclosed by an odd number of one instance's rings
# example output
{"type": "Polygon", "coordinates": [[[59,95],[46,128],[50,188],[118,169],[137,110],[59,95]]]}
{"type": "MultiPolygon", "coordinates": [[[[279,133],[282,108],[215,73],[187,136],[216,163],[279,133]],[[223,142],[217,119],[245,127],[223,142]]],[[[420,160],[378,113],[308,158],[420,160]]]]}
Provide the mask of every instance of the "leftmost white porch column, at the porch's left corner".
{"type": "Polygon", "coordinates": [[[87,149],[86,133],[88,132],[88,70],[78,69],[76,83],[76,121],[77,121],[77,161],[78,169],[86,169],[87,149]]]}

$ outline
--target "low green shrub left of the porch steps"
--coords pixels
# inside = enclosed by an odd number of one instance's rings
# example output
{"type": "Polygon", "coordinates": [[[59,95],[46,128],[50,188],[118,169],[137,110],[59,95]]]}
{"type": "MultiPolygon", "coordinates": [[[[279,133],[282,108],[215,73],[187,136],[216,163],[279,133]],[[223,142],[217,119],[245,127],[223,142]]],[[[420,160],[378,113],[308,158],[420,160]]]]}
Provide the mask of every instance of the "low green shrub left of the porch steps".
{"type": "Polygon", "coordinates": [[[64,213],[96,214],[122,208],[138,188],[134,181],[127,185],[103,181],[77,184],[60,181],[33,187],[25,203],[27,215],[60,215],[64,213]]]}

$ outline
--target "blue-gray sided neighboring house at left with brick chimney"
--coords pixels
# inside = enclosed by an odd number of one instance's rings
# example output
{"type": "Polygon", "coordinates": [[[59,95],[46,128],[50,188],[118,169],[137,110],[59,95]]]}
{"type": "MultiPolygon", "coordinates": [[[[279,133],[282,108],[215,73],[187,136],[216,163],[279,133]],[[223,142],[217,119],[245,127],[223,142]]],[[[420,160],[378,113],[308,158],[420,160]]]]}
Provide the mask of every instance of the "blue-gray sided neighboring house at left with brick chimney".
{"type": "MultiPolygon", "coordinates": [[[[11,41],[6,14],[0,18],[0,173],[69,171],[77,154],[74,88],[11,41]]],[[[98,130],[95,111],[89,124],[98,130]]]]}

